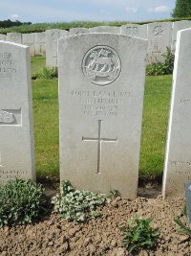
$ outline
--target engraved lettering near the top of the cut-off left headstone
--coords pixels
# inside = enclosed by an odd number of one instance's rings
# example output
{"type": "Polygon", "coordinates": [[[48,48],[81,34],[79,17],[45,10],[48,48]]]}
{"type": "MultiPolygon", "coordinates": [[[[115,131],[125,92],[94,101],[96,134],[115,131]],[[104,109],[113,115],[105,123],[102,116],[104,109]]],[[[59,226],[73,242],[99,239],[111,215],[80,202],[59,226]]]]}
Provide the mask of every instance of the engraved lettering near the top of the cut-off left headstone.
{"type": "Polygon", "coordinates": [[[15,74],[11,53],[0,53],[0,78],[12,78],[15,74]]]}

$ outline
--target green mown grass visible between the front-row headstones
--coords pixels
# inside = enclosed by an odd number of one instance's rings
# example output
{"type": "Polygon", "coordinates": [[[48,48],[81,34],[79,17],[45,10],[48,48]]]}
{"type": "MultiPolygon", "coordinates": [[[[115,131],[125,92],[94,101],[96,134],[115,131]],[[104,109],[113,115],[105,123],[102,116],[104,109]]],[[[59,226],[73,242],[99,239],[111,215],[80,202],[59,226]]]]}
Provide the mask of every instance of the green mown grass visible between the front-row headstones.
{"type": "MultiPolygon", "coordinates": [[[[32,73],[45,58],[32,58],[32,73]]],[[[172,76],[147,77],[145,85],[139,174],[162,175],[172,76]]],[[[57,79],[32,81],[36,172],[59,175],[57,79]]]]}

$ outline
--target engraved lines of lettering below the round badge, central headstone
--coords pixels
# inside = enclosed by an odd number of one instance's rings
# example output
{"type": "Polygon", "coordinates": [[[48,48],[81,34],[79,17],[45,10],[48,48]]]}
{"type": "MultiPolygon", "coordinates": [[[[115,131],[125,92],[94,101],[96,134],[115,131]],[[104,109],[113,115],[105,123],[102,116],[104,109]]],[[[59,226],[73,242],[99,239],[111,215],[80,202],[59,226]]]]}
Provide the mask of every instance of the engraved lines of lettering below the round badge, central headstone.
{"type": "Polygon", "coordinates": [[[130,97],[126,91],[73,90],[71,93],[79,105],[84,105],[83,114],[92,116],[119,116],[121,105],[130,97]]]}

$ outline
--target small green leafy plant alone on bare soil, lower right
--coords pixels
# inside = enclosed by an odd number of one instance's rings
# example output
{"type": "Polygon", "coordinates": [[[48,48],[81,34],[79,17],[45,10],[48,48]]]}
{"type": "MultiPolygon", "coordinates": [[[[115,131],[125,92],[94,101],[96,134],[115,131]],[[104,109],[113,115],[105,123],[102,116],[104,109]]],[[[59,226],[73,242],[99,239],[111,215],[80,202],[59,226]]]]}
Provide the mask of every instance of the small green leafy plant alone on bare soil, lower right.
{"type": "Polygon", "coordinates": [[[128,219],[127,226],[119,229],[123,232],[123,245],[130,253],[138,251],[140,248],[151,248],[159,237],[159,230],[154,230],[150,224],[153,220],[135,218],[128,219]]]}

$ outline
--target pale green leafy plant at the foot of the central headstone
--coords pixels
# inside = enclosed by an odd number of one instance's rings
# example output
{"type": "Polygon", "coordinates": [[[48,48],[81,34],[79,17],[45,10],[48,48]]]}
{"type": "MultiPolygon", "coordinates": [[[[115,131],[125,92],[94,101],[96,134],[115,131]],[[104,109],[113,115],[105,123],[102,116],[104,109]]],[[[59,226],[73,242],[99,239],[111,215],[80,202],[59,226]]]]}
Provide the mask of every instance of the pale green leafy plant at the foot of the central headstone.
{"type": "Polygon", "coordinates": [[[62,181],[60,195],[53,197],[54,210],[68,221],[86,221],[101,216],[96,207],[110,201],[104,194],[75,190],[69,180],[62,181]]]}

